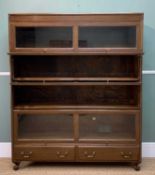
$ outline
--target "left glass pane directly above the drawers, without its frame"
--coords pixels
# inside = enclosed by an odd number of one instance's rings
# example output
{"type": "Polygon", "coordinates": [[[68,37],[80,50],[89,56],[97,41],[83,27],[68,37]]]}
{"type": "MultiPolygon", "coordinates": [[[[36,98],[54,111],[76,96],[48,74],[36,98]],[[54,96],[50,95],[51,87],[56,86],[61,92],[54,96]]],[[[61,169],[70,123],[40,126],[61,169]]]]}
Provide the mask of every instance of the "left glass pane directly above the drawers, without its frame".
{"type": "Polygon", "coordinates": [[[18,116],[18,137],[20,139],[72,139],[72,116],[21,114],[18,116]]]}

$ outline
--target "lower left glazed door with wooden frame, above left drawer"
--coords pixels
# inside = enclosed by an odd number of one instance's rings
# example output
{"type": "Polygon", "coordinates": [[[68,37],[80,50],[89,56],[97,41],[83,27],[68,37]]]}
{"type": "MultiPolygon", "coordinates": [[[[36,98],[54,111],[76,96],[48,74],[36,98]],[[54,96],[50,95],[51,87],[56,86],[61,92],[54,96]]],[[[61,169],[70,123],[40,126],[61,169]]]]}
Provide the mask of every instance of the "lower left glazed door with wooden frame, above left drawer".
{"type": "Polygon", "coordinates": [[[14,112],[14,137],[17,142],[73,142],[73,124],[70,113],[14,112]]]}

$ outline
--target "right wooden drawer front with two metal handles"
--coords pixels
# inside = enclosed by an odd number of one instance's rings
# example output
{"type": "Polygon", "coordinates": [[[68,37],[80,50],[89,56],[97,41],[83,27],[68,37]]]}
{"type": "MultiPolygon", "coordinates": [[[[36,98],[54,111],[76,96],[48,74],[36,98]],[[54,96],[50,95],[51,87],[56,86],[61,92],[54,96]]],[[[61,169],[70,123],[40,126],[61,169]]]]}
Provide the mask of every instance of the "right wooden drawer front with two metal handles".
{"type": "Polygon", "coordinates": [[[79,161],[137,161],[140,151],[137,147],[79,147],[79,161]]]}

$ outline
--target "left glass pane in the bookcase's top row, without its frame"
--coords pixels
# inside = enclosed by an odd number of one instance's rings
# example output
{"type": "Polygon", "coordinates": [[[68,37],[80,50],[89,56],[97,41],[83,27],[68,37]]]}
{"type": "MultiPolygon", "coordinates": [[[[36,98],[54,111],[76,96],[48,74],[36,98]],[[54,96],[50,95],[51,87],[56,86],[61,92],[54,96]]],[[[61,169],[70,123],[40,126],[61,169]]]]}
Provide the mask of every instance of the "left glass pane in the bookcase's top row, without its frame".
{"type": "Polygon", "coordinates": [[[17,27],[16,47],[72,47],[72,27],[17,27]]]}

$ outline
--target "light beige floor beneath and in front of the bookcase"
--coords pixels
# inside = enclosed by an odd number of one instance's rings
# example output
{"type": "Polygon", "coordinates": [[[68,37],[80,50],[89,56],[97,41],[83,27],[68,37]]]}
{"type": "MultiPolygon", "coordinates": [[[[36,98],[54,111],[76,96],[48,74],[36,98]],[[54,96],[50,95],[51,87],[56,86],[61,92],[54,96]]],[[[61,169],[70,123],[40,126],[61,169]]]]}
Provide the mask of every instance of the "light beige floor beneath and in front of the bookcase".
{"type": "Polygon", "coordinates": [[[120,164],[69,164],[22,162],[18,171],[8,158],[0,158],[0,175],[155,175],[155,158],[144,158],[141,170],[120,164]]]}

